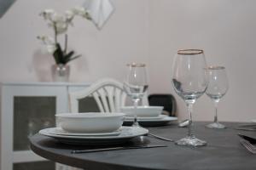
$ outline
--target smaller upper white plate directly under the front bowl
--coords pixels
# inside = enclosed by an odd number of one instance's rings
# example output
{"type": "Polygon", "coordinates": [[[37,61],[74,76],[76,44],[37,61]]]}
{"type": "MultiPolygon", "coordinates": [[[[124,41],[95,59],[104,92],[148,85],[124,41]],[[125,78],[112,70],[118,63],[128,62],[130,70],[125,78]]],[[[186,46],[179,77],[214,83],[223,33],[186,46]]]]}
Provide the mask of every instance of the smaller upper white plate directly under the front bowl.
{"type": "Polygon", "coordinates": [[[116,130],[112,133],[69,133],[63,130],[61,127],[52,127],[52,128],[45,128],[45,132],[52,133],[56,135],[67,135],[67,136],[117,136],[121,132],[120,130],[116,130]]]}

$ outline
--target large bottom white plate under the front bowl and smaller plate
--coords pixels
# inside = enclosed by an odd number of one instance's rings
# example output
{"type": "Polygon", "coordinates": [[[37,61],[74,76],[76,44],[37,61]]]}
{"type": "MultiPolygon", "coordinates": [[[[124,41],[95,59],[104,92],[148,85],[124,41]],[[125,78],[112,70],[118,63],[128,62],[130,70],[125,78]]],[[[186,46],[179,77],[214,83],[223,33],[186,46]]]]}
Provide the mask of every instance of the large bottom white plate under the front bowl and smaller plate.
{"type": "Polygon", "coordinates": [[[59,140],[65,144],[84,144],[84,145],[105,145],[121,144],[148,133],[148,129],[143,127],[120,127],[120,133],[116,136],[69,136],[49,133],[49,130],[43,129],[39,133],[59,140]]]}

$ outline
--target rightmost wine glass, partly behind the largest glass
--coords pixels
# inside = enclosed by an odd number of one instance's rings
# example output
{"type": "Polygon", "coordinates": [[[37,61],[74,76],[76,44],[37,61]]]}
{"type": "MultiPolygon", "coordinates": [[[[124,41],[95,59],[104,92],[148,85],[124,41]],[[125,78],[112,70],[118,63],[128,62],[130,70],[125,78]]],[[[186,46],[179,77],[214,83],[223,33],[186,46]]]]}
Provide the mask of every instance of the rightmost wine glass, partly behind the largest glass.
{"type": "Polygon", "coordinates": [[[225,128],[225,126],[218,122],[217,108],[219,100],[227,93],[229,88],[229,82],[224,66],[209,66],[207,69],[207,75],[209,77],[209,84],[206,94],[212,99],[215,106],[214,121],[208,124],[210,128],[225,128]]]}

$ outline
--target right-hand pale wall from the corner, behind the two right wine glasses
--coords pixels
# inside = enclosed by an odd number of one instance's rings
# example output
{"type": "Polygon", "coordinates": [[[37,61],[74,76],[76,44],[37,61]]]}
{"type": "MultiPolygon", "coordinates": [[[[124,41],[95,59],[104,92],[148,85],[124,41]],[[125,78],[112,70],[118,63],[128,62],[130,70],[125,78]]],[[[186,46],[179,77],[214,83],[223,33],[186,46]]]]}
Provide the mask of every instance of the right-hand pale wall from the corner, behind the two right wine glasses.
{"type": "MultiPolygon", "coordinates": [[[[219,103],[219,119],[256,119],[255,46],[256,1],[253,0],[150,0],[149,63],[152,92],[171,92],[172,59],[179,48],[202,48],[208,65],[224,65],[230,89],[219,103]]],[[[176,95],[177,96],[177,95],[176,95]]],[[[179,116],[187,117],[177,96],[179,116]]],[[[207,96],[195,104],[196,120],[212,120],[207,96]]]]}

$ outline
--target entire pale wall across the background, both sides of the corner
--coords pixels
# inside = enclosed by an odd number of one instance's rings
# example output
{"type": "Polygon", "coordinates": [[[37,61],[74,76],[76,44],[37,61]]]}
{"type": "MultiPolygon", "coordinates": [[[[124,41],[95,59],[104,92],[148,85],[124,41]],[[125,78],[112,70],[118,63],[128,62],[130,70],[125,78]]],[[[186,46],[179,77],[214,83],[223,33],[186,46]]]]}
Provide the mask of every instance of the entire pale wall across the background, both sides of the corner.
{"type": "MultiPolygon", "coordinates": [[[[38,16],[44,8],[58,11],[83,0],[18,0],[0,20],[0,82],[51,81],[54,63],[36,37],[51,33],[38,16]]],[[[148,64],[150,93],[172,93],[172,59],[179,48],[203,48],[208,64],[225,65],[230,89],[219,104],[219,119],[256,119],[253,96],[256,1],[253,0],[113,0],[116,8],[102,31],[88,20],[74,20],[69,47],[80,59],[71,63],[71,82],[100,77],[122,81],[125,64],[148,64]]],[[[187,112],[176,96],[178,116],[187,112]]],[[[212,120],[206,96],[195,104],[195,120],[212,120]]]]}

